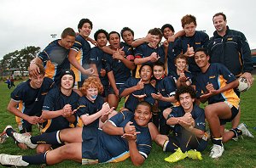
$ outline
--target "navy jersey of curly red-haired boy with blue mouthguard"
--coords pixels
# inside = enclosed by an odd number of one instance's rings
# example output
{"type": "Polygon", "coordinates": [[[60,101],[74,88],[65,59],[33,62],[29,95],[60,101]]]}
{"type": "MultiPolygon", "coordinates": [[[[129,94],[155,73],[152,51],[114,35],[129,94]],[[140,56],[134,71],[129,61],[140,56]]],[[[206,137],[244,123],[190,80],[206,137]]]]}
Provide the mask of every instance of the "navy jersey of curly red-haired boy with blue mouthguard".
{"type": "MultiPolygon", "coordinates": [[[[97,96],[94,102],[91,102],[85,96],[79,98],[79,109],[76,114],[80,117],[81,115],[93,115],[96,114],[99,110],[102,109],[102,104],[104,104],[104,100],[101,96],[97,96]]],[[[87,126],[99,127],[99,118],[95,121],[91,122],[87,126]]]]}

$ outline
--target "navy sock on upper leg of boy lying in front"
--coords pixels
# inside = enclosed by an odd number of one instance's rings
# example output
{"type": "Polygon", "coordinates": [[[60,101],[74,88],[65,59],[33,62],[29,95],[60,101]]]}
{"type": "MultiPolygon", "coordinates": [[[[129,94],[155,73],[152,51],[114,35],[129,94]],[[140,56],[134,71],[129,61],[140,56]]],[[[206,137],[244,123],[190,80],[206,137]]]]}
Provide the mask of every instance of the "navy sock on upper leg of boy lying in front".
{"type": "Polygon", "coordinates": [[[45,143],[45,144],[61,144],[60,131],[43,133],[42,135],[30,137],[33,144],[45,143]]]}

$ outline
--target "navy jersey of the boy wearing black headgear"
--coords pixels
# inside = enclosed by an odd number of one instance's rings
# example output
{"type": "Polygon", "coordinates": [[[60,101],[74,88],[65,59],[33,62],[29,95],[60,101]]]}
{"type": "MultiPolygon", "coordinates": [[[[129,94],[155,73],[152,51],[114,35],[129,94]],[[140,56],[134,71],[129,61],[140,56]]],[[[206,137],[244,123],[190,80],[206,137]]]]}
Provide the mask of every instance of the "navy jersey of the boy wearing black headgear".
{"type": "MultiPolygon", "coordinates": [[[[43,110],[46,111],[56,111],[59,109],[63,109],[66,104],[70,104],[72,106],[72,110],[77,109],[77,102],[79,101],[79,94],[73,92],[66,96],[62,94],[60,88],[54,88],[49,91],[44,99],[43,110]]],[[[63,117],[58,116],[54,119],[47,120],[43,123],[42,132],[55,132],[58,130],[62,130],[64,128],[68,128],[70,125],[69,121],[63,117]]]]}

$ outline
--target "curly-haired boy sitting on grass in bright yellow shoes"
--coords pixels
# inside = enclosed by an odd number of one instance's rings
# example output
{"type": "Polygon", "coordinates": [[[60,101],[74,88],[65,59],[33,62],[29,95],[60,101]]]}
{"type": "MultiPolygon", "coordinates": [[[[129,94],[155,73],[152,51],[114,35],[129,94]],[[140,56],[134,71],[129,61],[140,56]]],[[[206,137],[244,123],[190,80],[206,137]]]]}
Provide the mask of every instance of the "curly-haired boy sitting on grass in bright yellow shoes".
{"type": "Polygon", "coordinates": [[[159,134],[155,142],[163,151],[173,153],[165,159],[167,162],[177,162],[186,157],[202,160],[199,151],[207,147],[204,109],[195,104],[193,87],[179,87],[175,98],[181,105],[165,109],[163,113],[167,125],[173,126],[173,135],[159,134]]]}

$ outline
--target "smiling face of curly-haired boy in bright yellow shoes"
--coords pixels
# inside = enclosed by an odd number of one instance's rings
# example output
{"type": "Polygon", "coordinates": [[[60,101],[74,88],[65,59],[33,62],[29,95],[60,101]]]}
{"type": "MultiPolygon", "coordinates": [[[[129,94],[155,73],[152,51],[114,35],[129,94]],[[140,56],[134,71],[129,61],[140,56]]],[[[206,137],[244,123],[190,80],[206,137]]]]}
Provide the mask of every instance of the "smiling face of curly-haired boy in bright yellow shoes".
{"type": "Polygon", "coordinates": [[[179,95],[179,103],[186,113],[192,111],[194,101],[195,98],[191,98],[188,92],[179,95]]]}

